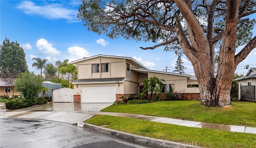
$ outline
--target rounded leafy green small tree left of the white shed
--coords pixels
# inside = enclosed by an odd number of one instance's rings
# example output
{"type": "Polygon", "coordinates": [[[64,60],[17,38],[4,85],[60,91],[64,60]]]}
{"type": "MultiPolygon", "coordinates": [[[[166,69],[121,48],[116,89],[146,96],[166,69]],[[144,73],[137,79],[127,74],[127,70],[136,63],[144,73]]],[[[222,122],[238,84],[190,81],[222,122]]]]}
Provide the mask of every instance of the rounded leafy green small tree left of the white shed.
{"type": "Polygon", "coordinates": [[[34,102],[34,98],[43,89],[43,79],[40,75],[35,75],[33,72],[26,71],[20,73],[17,79],[15,79],[15,90],[20,91],[25,99],[31,99],[34,102]]]}

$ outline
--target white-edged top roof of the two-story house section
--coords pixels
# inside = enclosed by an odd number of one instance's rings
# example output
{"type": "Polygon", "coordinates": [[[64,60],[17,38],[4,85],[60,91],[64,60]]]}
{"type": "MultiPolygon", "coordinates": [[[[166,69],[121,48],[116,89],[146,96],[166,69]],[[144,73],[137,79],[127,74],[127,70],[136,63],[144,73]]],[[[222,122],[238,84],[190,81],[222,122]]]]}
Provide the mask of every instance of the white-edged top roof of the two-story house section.
{"type": "Polygon", "coordinates": [[[114,55],[94,55],[92,57],[84,57],[83,59],[78,59],[76,61],[71,61],[71,63],[77,65],[77,63],[80,62],[80,61],[84,61],[84,60],[88,60],[88,59],[92,59],[92,58],[96,58],[96,57],[110,57],[110,58],[126,59],[128,61],[133,61],[133,62],[137,63],[138,65],[140,65],[144,69],[148,69],[147,67],[145,67],[140,62],[138,62],[135,59],[133,59],[132,57],[121,57],[121,56],[114,56],[114,55]]]}

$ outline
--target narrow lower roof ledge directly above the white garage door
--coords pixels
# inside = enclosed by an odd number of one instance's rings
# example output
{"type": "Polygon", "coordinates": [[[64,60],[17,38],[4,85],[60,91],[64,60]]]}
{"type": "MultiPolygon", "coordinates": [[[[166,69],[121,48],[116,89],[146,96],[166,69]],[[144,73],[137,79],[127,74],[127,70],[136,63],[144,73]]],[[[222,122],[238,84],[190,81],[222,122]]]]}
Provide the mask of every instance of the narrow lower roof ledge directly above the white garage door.
{"type": "Polygon", "coordinates": [[[125,77],[121,78],[99,78],[99,79],[77,79],[72,84],[86,84],[86,83],[123,83],[125,77]]]}

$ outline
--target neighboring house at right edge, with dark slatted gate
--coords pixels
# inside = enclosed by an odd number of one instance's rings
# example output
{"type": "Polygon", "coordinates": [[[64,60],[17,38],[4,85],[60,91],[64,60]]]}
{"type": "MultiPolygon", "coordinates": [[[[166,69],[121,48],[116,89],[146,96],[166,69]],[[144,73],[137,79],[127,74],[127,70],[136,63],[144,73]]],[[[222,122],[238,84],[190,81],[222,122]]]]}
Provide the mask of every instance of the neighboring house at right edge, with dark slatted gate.
{"type": "Polygon", "coordinates": [[[256,100],[256,68],[250,68],[244,77],[235,79],[238,82],[238,98],[256,100]]]}

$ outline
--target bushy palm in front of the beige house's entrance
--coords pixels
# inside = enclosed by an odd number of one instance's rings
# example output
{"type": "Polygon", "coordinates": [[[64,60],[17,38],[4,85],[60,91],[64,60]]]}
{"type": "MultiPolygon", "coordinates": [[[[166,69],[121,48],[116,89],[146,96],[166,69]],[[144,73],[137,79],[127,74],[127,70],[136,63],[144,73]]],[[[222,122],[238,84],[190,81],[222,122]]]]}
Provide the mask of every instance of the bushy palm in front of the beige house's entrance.
{"type": "Polygon", "coordinates": [[[148,95],[148,92],[150,92],[150,100],[156,95],[156,93],[162,93],[162,88],[164,87],[164,79],[159,79],[158,77],[146,77],[143,80],[144,87],[142,93],[146,93],[148,95]]]}

